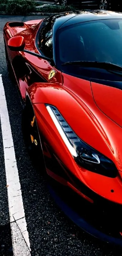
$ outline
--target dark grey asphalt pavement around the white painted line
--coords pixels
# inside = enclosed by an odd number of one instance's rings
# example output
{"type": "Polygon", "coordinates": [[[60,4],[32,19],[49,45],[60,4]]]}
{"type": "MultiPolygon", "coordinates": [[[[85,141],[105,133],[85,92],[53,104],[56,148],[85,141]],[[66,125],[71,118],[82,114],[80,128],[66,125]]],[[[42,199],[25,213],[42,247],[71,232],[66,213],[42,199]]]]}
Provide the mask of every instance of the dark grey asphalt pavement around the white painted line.
{"type": "MultiPolygon", "coordinates": [[[[22,200],[32,256],[119,256],[122,249],[103,243],[79,230],[52,200],[43,178],[31,164],[22,137],[22,107],[15,85],[8,77],[2,30],[7,21],[27,21],[40,16],[0,16],[0,74],[21,184],[22,200]]],[[[9,135],[8,135],[9,136],[9,135]]],[[[41,163],[40,163],[41,164],[41,163]]],[[[13,255],[3,139],[0,124],[0,255],[13,255]]],[[[21,256],[21,255],[20,255],[21,256]]]]}

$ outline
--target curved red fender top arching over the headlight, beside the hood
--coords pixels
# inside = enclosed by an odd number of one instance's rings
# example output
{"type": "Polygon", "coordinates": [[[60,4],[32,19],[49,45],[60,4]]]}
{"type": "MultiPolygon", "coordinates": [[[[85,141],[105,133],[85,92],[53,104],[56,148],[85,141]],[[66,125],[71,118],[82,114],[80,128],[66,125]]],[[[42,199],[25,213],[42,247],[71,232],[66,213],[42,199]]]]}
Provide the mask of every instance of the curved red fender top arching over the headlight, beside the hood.
{"type": "MultiPolygon", "coordinates": [[[[82,101],[79,102],[64,87],[52,83],[35,83],[28,88],[27,95],[32,104],[36,104],[36,106],[38,106],[38,103],[55,106],[80,139],[106,155],[116,166],[119,165],[117,166],[119,170],[122,170],[122,165],[119,164],[120,160],[117,159],[118,153],[116,153],[117,144],[119,148],[122,142],[120,143],[119,138],[119,142],[117,141],[115,145],[115,142],[111,140],[112,137],[114,140],[116,139],[115,131],[120,134],[121,128],[97,108],[94,100],[95,109],[93,113],[90,107],[88,108],[82,101]]],[[[48,115],[46,107],[45,111],[48,115]]],[[[121,147],[120,150],[122,152],[121,147]]]]}

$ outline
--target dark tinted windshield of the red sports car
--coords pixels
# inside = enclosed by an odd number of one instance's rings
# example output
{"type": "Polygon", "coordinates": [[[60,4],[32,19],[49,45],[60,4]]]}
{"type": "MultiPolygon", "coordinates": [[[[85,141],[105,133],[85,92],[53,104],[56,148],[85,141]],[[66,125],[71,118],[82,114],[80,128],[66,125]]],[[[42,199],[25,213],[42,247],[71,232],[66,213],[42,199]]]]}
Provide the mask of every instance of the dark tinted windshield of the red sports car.
{"type": "Polygon", "coordinates": [[[58,31],[57,42],[59,66],[69,61],[100,61],[122,66],[120,19],[95,20],[64,27],[58,31]]]}

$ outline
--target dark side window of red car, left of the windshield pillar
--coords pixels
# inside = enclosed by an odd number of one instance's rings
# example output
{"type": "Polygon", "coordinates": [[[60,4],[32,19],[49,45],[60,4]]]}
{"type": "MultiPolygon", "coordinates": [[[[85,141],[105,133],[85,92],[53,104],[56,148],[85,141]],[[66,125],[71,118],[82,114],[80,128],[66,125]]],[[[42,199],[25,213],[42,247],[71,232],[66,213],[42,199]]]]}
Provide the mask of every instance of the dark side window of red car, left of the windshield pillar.
{"type": "Polygon", "coordinates": [[[52,20],[46,19],[38,35],[38,47],[49,58],[53,58],[52,25],[52,20]]]}

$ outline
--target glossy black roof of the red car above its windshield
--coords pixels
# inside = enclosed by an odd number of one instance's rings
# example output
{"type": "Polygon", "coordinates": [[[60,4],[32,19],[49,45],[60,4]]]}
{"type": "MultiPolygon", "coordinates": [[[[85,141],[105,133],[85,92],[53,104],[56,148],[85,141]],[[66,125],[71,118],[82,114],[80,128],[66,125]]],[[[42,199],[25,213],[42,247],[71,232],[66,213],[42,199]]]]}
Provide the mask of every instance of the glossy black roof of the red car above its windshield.
{"type": "Polygon", "coordinates": [[[58,13],[52,16],[54,30],[80,22],[103,19],[122,19],[122,13],[102,10],[81,10],[76,12],[58,13]]]}

